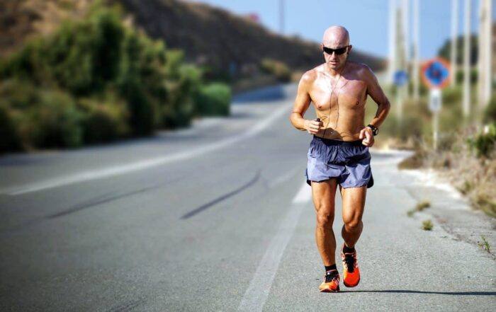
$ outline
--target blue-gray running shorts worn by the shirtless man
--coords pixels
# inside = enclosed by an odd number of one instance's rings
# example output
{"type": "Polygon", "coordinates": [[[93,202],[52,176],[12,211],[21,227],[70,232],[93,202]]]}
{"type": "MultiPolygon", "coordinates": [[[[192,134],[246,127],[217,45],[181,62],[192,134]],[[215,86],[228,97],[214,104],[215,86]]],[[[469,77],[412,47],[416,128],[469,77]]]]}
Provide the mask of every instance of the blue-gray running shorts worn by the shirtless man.
{"type": "Polygon", "coordinates": [[[310,186],[310,181],[336,178],[345,188],[372,187],[371,154],[361,140],[338,141],[314,135],[308,149],[305,176],[310,186]]]}

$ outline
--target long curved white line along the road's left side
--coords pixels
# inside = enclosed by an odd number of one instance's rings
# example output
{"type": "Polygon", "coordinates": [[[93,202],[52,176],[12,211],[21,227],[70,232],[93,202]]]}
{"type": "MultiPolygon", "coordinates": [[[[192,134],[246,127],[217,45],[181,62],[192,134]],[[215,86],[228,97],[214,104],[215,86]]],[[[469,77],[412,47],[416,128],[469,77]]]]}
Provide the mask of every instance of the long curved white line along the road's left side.
{"type": "Polygon", "coordinates": [[[8,195],[21,195],[28,192],[36,192],[39,190],[45,190],[52,187],[59,187],[62,185],[69,185],[72,183],[79,183],[89,180],[96,180],[101,178],[108,178],[113,175],[120,175],[123,173],[130,173],[132,171],[138,171],[145,168],[150,168],[154,166],[160,166],[165,163],[171,163],[173,161],[180,161],[187,158],[193,158],[195,156],[208,153],[210,151],[215,151],[216,149],[221,149],[222,147],[228,146],[230,144],[234,144],[237,141],[241,141],[243,139],[247,139],[249,137],[253,137],[256,134],[262,132],[266,127],[269,127],[274,120],[281,115],[288,112],[288,104],[285,103],[281,105],[277,110],[275,110],[271,115],[266,117],[261,122],[254,125],[247,132],[242,134],[237,134],[232,137],[228,137],[227,139],[222,139],[213,144],[208,144],[206,146],[198,147],[197,149],[190,149],[188,151],[179,152],[177,154],[172,154],[164,157],[150,158],[143,161],[136,161],[134,163],[128,163],[123,166],[113,166],[108,168],[101,168],[93,171],[84,171],[80,173],[74,173],[72,175],[57,177],[49,180],[43,180],[40,182],[29,183],[26,185],[20,185],[17,187],[9,187],[4,190],[0,190],[0,194],[8,194],[8,195]]]}

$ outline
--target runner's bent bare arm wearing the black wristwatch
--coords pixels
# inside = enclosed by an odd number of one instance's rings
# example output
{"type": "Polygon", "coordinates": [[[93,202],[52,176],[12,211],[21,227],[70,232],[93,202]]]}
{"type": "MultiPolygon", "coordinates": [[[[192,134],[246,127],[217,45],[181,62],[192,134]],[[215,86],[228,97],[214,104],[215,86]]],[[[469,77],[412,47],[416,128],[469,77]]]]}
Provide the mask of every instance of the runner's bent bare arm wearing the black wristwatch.
{"type": "MultiPolygon", "coordinates": [[[[388,115],[391,104],[385,96],[383,89],[379,86],[379,81],[377,80],[376,75],[373,74],[373,71],[367,66],[365,66],[364,69],[363,80],[367,83],[367,94],[371,96],[378,106],[376,116],[373,117],[368,125],[378,128],[382,125],[385,117],[388,115]]],[[[363,139],[363,145],[372,146],[374,142],[372,129],[370,127],[361,129],[360,139],[363,139]]]]}

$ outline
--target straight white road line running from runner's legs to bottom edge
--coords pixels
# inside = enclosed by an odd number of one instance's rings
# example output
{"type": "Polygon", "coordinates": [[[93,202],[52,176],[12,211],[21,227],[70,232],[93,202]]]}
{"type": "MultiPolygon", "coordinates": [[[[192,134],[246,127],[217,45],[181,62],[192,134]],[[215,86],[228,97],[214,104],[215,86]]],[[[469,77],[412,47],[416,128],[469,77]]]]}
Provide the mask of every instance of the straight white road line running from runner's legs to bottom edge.
{"type": "Polygon", "coordinates": [[[252,281],[249,283],[247,291],[239,304],[238,311],[262,311],[265,301],[271,291],[272,282],[276,276],[279,262],[283,256],[284,250],[288,245],[295,227],[298,224],[300,214],[305,207],[305,203],[312,196],[310,186],[305,182],[300,187],[298,194],[293,199],[291,209],[289,209],[286,218],[279,225],[276,236],[267,248],[264,257],[261,259],[257,271],[252,281]]]}

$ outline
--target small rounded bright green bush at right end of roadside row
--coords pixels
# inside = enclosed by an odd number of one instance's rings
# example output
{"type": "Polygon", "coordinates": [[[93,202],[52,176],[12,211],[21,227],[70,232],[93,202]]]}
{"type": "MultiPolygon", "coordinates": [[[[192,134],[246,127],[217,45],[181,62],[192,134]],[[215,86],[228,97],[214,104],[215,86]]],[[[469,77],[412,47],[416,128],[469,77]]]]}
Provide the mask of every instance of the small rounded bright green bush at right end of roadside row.
{"type": "Polygon", "coordinates": [[[231,90],[224,83],[210,83],[203,86],[196,97],[196,107],[201,115],[215,116],[230,114],[231,90]]]}

